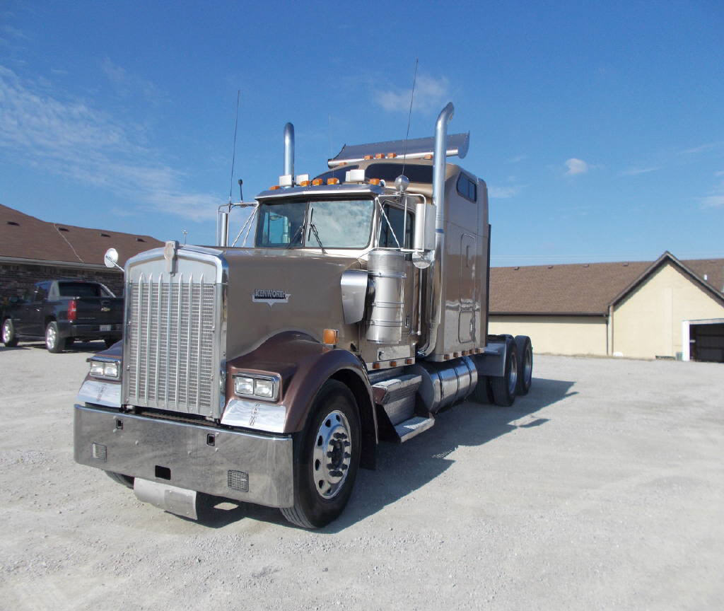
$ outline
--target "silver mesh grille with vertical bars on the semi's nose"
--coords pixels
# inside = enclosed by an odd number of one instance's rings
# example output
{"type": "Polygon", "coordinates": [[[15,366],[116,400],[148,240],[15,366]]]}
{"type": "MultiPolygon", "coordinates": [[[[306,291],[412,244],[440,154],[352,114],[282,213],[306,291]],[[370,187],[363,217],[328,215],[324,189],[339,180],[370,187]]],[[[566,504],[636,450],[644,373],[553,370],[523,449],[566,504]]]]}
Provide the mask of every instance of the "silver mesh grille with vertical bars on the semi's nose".
{"type": "Polygon", "coordinates": [[[208,415],[213,413],[216,285],[159,274],[132,282],[127,299],[125,359],[129,403],[208,415]]]}

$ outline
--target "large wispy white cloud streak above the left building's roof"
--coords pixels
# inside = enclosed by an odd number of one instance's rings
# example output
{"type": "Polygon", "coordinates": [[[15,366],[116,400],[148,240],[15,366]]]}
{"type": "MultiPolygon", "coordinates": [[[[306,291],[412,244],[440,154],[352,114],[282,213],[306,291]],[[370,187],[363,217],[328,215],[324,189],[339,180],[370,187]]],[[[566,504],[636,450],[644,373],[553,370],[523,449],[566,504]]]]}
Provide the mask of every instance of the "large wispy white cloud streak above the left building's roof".
{"type": "Polygon", "coordinates": [[[0,149],[54,174],[94,185],[140,208],[199,221],[223,203],[186,193],[184,176],[141,146],[143,132],[83,100],[49,96],[39,80],[0,66],[0,149]]]}

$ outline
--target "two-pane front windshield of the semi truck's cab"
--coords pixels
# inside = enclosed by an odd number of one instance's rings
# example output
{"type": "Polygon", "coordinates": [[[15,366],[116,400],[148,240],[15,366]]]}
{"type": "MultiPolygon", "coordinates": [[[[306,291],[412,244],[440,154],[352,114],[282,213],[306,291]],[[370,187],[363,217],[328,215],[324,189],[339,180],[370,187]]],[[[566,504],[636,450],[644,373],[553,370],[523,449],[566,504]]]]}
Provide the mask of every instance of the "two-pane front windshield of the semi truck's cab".
{"type": "Polygon", "coordinates": [[[257,248],[365,248],[374,200],[263,202],[256,222],[257,248]]]}

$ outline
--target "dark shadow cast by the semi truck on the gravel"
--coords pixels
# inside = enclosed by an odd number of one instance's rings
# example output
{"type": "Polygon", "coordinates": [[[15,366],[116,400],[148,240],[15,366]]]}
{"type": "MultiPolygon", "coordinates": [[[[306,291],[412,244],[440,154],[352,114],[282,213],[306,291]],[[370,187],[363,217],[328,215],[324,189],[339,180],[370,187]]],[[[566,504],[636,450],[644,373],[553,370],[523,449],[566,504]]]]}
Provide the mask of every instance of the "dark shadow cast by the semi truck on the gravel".
{"type": "MultiPolygon", "coordinates": [[[[344,513],[316,532],[333,534],[342,531],[429,484],[452,466],[455,461],[448,456],[460,446],[480,446],[518,428],[544,425],[550,418],[531,415],[565,397],[577,395],[577,392],[571,392],[573,384],[535,378],[531,393],[518,397],[510,408],[468,401],[439,413],[430,431],[405,444],[380,442],[376,470],[358,471],[355,488],[344,513]]],[[[209,500],[199,515],[199,522],[210,528],[222,528],[241,518],[294,528],[276,509],[249,504],[222,509],[213,504],[214,501],[209,500]]]]}

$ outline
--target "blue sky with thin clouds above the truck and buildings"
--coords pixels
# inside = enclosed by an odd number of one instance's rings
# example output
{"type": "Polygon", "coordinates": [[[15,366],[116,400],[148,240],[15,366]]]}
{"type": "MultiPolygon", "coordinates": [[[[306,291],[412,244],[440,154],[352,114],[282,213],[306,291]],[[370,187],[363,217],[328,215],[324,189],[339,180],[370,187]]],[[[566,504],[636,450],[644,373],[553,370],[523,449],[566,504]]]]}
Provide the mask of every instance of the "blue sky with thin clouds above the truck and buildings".
{"type": "MultiPolygon", "coordinates": [[[[720,1],[0,4],[0,202],[213,243],[344,143],[471,132],[492,264],[724,257],[720,1]]],[[[455,162],[455,160],[452,160],[455,162]]]]}

